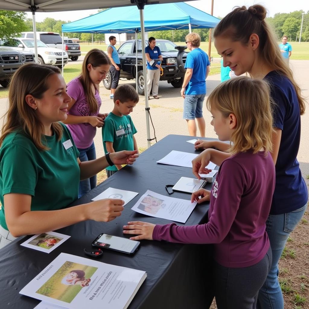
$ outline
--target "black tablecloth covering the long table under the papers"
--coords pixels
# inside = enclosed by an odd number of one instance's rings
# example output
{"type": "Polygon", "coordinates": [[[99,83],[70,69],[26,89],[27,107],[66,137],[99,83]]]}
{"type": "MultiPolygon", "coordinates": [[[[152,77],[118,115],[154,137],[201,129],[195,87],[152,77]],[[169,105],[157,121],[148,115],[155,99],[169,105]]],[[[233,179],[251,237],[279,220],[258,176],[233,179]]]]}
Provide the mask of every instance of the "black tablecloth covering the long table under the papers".
{"type": "MultiPolygon", "coordinates": [[[[83,249],[91,250],[91,242],[100,233],[123,236],[122,226],[128,221],[147,221],[166,224],[165,219],[148,217],[131,210],[147,189],[168,195],[166,184],[175,184],[181,176],[192,177],[191,168],[157,164],[171,150],[198,153],[186,141],[193,137],[168,135],[144,151],[133,166],[126,166],[72,205],[87,203],[108,187],[135,191],[140,194],[125,205],[121,217],[103,223],[86,221],[68,226],[58,232],[71,237],[47,254],[20,246],[27,238],[16,239],[0,250],[1,308],[30,309],[39,301],[22,296],[19,291],[60,252],[84,256],[83,249]]],[[[205,188],[210,189],[211,184],[205,188]]],[[[174,192],[171,197],[189,199],[188,193],[174,192]]],[[[185,225],[207,221],[209,204],[197,205],[185,225]]],[[[180,224],[181,223],[177,223],[180,224]]],[[[129,236],[125,236],[129,237],[129,236]]],[[[133,298],[132,308],[209,308],[213,298],[211,273],[211,245],[182,245],[143,240],[134,255],[104,250],[100,261],[146,271],[147,278],[133,298]]]]}

